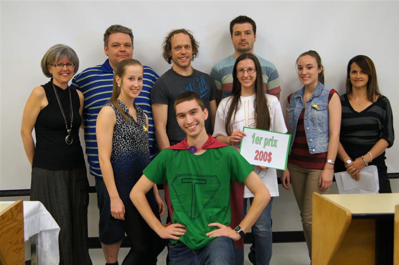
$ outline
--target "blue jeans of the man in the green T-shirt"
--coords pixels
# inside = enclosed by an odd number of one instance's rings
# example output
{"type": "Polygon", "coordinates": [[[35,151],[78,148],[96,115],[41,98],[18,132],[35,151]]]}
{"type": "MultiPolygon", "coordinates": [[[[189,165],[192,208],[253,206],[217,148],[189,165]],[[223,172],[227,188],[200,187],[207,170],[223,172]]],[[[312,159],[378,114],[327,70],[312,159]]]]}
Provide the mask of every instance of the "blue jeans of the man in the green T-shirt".
{"type": "Polygon", "coordinates": [[[233,241],[217,237],[200,250],[169,242],[169,259],[169,265],[234,265],[233,241]]]}

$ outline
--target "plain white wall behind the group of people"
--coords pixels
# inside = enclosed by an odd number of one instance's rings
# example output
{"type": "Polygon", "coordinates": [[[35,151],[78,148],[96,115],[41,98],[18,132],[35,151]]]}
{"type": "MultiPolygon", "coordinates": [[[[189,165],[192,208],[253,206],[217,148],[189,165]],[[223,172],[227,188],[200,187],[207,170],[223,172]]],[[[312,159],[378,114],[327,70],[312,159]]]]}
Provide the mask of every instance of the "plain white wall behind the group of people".
{"type": "MultiPolygon", "coordinates": [[[[200,55],[194,66],[210,72],[215,62],[233,52],[229,21],[240,14],[252,17],[257,23],[255,53],[276,65],[282,106],[286,105],[286,96],[300,87],[295,72],[295,60],[300,53],[309,49],[318,51],[325,66],[326,85],[340,93],[344,92],[349,59],[358,54],[368,55],[376,64],[382,92],[391,100],[394,125],[399,125],[399,106],[395,101],[399,2],[1,1],[0,4],[0,190],[30,187],[30,168],[19,130],[29,93],[33,87],[47,82],[39,65],[45,51],[56,43],[70,45],[79,56],[79,72],[101,64],[106,59],[102,35],[109,25],[117,23],[133,29],[134,57],[159,74],[170,67],[161,55],[163,37],[173,28],[192,30],[200,42],[200,55]]],[[[399,172],[395,163],[399,155],[397,146],[387,151],[389,172],[399,172]]],[[[94,183],[92,176],[89,181],[94,183]]],[[[399,181],[392,181],[392,185],[399,192],[399,181]]],[[[280,211],[280,207],[290,212],[296,210],[292,192],[281,193],[274,211],[280,211]]],[[[90,207],[95,207],[95,200],[90,207]]],[[[94,208],[89,211],[98,214],[94,208]]],[[[283,211],[280,214],[285,220],[290,219],[285,218],[283,211]]],[[[292,222],[296,223],[282,230],[297,230],[299,223],[292,222]]],[[[278,227],[278,223],[273,225],[278,227]]]]}

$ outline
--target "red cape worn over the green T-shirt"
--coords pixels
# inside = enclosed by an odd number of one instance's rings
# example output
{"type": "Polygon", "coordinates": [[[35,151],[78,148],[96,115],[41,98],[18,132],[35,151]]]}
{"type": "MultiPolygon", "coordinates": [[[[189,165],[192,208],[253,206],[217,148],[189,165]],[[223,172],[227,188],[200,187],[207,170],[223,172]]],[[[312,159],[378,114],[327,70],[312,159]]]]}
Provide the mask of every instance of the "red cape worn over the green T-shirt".
{"type": "MultiPolygon", "coordinates": [[[[225,146],[228,146],[228,145],[216,140],[212,135],[208,134],[208,139],[201,146],[201,148],[202,149],[214,149],[214,148],[220,148],[220,147],[225,147],[225,146]]],[[[175,145],[169,146],[168,149],[188,150],[189,147],[190,146],[187,142],[187,137],[186,137],[183,141],[181,141],[175,145]]],[[[169,195],[168,182],[164,183],[164,192],[165,192],[165,200],[168,205],[169,215],[172,220],[173,207],[172,207],[172,202],[171,202],[171,198],[169,195]]],[[[232,229],[234,229],[236,226],[238,226],[242,220],[243,205],[244,205],[244,184],[236,182],[236,181],[232,181],[231,188],[230,188],[230,207],[231,207],[230,227],[232,229]]],[[[234,247],[244,248],[244,241],[242,239],[235,241],[234,247]]]]}

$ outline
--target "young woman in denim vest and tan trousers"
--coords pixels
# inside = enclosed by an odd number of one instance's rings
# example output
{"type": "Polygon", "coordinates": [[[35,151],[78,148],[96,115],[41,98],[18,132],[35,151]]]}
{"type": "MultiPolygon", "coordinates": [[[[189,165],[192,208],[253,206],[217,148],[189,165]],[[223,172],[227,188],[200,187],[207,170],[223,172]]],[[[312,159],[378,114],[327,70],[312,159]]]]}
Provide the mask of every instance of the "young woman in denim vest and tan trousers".
{"type": "Polygon", "coordinates": [[[292,137],[282,184],[287,190],[292,184],[311,258],[312,193],[326,193],[332,184],[341,104],[338,93],[323,84],[324,69],[317,52],[302,53],[296,64],[304,86],[288,96],[288,130],[292,137]]]}

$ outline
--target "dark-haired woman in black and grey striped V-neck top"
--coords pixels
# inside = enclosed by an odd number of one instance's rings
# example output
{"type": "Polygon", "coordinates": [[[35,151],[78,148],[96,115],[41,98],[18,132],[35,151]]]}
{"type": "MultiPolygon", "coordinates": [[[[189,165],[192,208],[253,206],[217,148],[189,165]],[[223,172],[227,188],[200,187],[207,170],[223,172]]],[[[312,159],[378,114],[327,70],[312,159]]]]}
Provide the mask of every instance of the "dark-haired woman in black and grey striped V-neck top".
{"type": "Polygon", "coordinates": [[[359,171],[376,165],[380,193],[391,193],[385,165],[385,150],[394,144],[390,102],[377,83],[373,61],[365,55],[353,57],[347,68],[346,94],[342,95],[340,144],[335,171],[347,170],[359,180],[359,171]]]}

